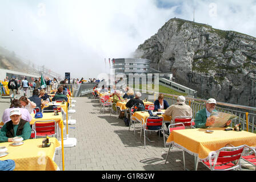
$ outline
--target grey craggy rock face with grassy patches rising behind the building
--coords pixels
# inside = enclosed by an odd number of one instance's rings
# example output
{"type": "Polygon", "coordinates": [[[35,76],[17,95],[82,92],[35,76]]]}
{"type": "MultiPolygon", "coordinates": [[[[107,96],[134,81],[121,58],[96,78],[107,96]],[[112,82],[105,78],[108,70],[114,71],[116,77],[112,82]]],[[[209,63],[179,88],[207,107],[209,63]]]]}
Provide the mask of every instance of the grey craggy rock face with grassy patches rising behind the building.
{"type": "Polygon", "coordinates": [[[256,105],[256,38],[207,24],[170,19],[139,45],[136,58],[173,73],[175,82],[198,91],[198,97],[256,105]]]}

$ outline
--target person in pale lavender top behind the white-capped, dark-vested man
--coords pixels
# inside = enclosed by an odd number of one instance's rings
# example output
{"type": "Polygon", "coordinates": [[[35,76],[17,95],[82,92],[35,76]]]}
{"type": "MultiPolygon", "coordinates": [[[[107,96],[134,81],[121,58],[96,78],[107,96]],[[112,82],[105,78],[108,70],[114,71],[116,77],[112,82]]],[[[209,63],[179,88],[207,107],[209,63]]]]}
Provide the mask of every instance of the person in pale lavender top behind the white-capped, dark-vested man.
{"type": "Polygon", "coordinates": [[[11,120],[10,111],[13,110],[13,108],[19,108],[19,110],[21,111],[22,119],[24,119],[25,121],[28,121],[28,122],[31,121],[32,117],[31,117],[29,111],[25,108],[21,108],[21,102],[19,102],[19,100],[17,100],[17,99],[14,99],[13,101],[11,101],[10,108],[7,108],[7,109],[5,109],[5,111],[3,111],[3,116],[2,116],[3,124],[5,124],[11,120]]]}

